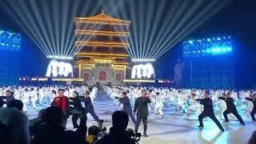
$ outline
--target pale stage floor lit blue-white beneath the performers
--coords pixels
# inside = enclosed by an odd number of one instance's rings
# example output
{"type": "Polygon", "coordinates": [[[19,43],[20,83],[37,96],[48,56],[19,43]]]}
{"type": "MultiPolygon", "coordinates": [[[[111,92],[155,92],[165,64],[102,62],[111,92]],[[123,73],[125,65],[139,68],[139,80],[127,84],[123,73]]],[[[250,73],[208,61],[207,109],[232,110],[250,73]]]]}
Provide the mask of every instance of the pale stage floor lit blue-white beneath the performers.
{"type": "MultiPolygon", "coordinates": [[[[42,107],[39,107],[40,109],[42,107]]],[[[118,110],[114,102],[108,100],[107,96],[100,94],[94,102],[94,109],[98,117],[104,119],[103,126],[106,126],[109,130],[111,126],[111,114],[118,110]]],[[[29,118],[36,118],[38,110],[29,109],[29,118]]],[[[164,108],[165,118],[161,118],[159,115],[150,113],[148,130],[148,138],[142,136],[139,143],[142,144],[170,144],[170,143],[219,143],[219,144],[242,144],[247,143],[251,134],[256,130],[256,123],[251,122],[250,114],[240,112],[243,120],[246,122],[246,126],[240,126],[238,120],[229,116],[230,123],[223,123],[223,120],[219,116],[217,118],[221,121],[222,126],[226,130],[224,133],[218,130],[218,127],[211,121],[210,118],[204,119],[204,129],[198,130],[198,115],[182,114],[182,110],[175,111],[174,107],[164,108]]],[[[87,126],[98,125],[94,119],[89,116],[87,126]]],[[[68,119],[67,129],[72,129],[71,118],[68,119]]],[[[130,121],[128,128],[133,128],[134,125],[130,121]]],[[[143,125],[139,127],[138,132],[143,131],[143,125]]]]}

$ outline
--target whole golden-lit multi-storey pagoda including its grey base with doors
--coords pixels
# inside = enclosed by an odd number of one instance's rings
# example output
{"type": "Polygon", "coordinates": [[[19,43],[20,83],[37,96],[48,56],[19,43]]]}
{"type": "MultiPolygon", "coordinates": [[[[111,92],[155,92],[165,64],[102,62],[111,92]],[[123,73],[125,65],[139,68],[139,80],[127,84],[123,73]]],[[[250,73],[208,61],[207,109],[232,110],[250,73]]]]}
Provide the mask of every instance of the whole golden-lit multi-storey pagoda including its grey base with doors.
{"type": "Polygon", "coordinates": [[[78,77],[89,85],[122,84],[128,68],[130,21],[98,14],[74,18],[78,77]]]}

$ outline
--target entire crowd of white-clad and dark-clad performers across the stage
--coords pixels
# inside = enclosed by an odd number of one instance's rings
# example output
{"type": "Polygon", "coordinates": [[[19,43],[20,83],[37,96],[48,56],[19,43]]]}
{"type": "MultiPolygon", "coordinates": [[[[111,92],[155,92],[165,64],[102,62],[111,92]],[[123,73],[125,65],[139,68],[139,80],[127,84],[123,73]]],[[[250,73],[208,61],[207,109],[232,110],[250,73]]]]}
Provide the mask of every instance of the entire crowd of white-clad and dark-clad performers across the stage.
{"type": "MultiPolygon", "coordinates": [[[[135,131],[138,131],[140,122],[144,125],[144,135],[147,129],[147,117],[149,111],[159,114],[161,118],[165,117],[163,108],[173,107],[178,113],[198,115],[200,125],[203,127],[202,118],[211,118],[219,127],[224,130],[215,114],[218,114],[225,122],[229,122],[227,114],[233,114],[238,118],[241,125],[245,122],[239,112],[244,110],[250,114],[255,121],[256,113],[256,91],[255,90],[196,90],[196,89],[173,89],[142,86],[104,86],[103,90],[109,98],[115,102],[119,110],[125,111],[135,125],[135,131]],[[133,108],[134,107],[134,108],[133,108]],[[135,118],[136,116],[136,118],[135,118]]],[[[23,102],[23,111],[27,112],[27,106],[33,109],[42,109],[42,106],[60,106],[62,97],[66,96],[68,105],[75,105],[72,115],[74,127],[78,127],[78,118],[82,119],[80,112],[86,110],[86,114],[92,115],[96,122],[102,122],[94,112],[94,98],[96,98],[98,88],[96,86],[2,86],[0,87],[1,96],[13,95],[14,99],[23,102]],[[82,97],[81,97],[82,96],[82,97]],[[83,106],[81,105],[83,104],[83,106]],[[40,107],[40,108],[38,108],[40,107]],[[78,112],[76,112],[77,110],[78,112]],[[80,112],[79,112],[80,111],[80,112]]],[[[6,99],[9,101],[10,99],[6,99]]],[[[69,110],[70,112],[70,110],[69,110]]],[[[68,117],[67,117],[68,118],[68,117]]]]}

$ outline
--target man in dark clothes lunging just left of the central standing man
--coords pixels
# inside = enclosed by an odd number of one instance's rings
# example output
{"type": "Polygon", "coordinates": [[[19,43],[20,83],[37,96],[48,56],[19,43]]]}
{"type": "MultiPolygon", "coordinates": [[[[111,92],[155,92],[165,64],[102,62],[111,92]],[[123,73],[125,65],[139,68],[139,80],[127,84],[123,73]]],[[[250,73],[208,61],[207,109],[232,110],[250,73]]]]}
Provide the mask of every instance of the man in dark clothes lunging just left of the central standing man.
{"type": "MultiPolygon", "coordinates": [[[[118,98],[118,97],[116,97],[116,98],[118,98]]],[[[127,93],[125,91],[122,92],[122,98],[118,98],[118,100],[123,105],[122,106],[122,111],[126,112],[129,115],[131,121],[134,122],[134,125],[136,125],[137,121],[134,118],[134,114],[132,112],[133,110],[132,110],[131,105],[130,105],[130,99],[127,97],[127,93]]]]}

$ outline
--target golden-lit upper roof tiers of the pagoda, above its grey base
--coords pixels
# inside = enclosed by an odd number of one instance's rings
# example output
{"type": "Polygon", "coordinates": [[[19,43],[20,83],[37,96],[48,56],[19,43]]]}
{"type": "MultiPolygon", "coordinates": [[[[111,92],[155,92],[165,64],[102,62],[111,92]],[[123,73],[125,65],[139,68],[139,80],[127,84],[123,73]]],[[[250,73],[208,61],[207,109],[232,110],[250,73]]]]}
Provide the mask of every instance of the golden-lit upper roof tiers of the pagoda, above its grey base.
{"type": "Polygon", "coordinates": [[[111,62],[128,65],[130,21],[98,14],[88,18],[74,18],[78,46],[77,64],[111,62]]]}

